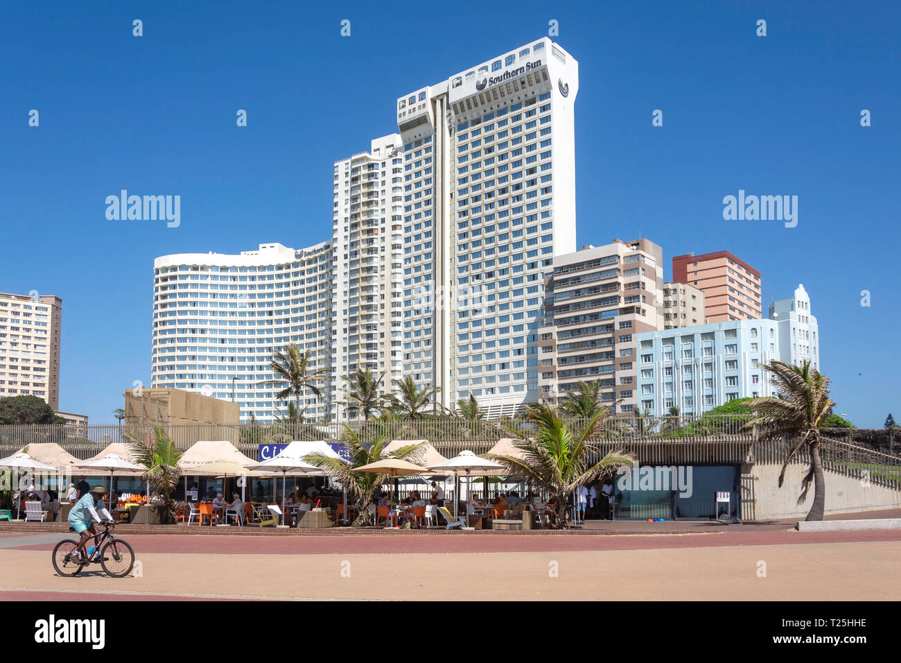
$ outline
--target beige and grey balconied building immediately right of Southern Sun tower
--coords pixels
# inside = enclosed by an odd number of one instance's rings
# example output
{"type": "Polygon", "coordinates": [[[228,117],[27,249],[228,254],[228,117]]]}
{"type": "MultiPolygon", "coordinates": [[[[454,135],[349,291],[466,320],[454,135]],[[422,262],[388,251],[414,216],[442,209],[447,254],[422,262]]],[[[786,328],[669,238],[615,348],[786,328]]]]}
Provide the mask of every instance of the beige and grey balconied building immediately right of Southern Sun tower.
{"type": "Polygon", "coordinates": [[[615,411],[637,399],[635,335],[663,328],[663,250],[647,239],[556,255],[545,282],[539,390],[559,403],[578,382],[600,382],[615,411]]]}

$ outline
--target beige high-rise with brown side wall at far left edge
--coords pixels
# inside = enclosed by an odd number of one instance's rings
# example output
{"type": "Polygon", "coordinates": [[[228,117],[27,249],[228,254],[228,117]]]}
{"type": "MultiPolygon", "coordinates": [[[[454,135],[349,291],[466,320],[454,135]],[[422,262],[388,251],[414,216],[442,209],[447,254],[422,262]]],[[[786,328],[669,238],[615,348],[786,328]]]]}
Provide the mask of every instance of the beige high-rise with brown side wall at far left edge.
{"type": "Polygon", "coordinates": [[[37,396],[59,410],[62,299],[0,292],[0,398],[37,396]]]}

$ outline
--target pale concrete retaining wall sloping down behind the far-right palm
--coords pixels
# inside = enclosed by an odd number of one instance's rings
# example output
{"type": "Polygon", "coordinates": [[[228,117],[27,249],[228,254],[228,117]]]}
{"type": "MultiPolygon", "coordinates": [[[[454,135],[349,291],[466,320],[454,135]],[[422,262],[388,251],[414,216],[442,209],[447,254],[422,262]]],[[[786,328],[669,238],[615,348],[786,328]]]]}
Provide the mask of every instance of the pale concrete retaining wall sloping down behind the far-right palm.
{"type": "MultiPolygon", "coordinates": [[[[801,493],[801,477],[805,465],[789,465],[782,487],[778,487],[781,465],[742,465],[742,486],[749,485],[753,496],[753,512],[742,511],[742,518],[749,520],[774,520],[779,518],[804,518],[814,503],[814,487],[807,499],[796,504],[801,493]],[[752,486],[752,488],[751,488],[752,486]]],[[[826,510],[829,513],[854,513],[857,511],[881,511],[901,508],[901,491],[860,479],[825,471],[826,510]]],[[[750,492],[750,491],[749,491],[750,492]]],[[[748,511],[747,509],[745,511],[748,511]]]]}

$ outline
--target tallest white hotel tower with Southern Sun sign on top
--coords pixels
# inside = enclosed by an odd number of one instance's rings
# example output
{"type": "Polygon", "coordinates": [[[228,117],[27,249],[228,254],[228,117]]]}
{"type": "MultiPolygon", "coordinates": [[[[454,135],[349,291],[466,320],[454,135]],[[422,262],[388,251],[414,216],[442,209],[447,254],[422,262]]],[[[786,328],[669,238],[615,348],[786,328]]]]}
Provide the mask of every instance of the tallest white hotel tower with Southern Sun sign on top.
{"type": "Polygon", "coordinates": [[[576,249],[578,63],[545,38],[397,100],[404,373],[491,415],[538,399],[555,253],[576,249]]]}

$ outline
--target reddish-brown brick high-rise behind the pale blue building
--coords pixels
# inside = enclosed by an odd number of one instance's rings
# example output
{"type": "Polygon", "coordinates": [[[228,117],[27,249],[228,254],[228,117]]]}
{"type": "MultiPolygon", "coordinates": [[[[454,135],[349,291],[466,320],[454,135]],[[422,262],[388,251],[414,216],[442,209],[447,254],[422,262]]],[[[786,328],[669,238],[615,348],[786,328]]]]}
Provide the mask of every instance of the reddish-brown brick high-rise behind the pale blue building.
{"type": "Polygon", "coordinates": [[[673,281],[704,292],[707,322],[762,318],[760,272],[728,251],[673,258],[673,281]]]}

